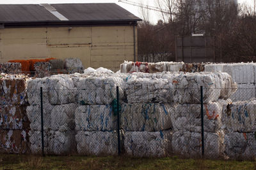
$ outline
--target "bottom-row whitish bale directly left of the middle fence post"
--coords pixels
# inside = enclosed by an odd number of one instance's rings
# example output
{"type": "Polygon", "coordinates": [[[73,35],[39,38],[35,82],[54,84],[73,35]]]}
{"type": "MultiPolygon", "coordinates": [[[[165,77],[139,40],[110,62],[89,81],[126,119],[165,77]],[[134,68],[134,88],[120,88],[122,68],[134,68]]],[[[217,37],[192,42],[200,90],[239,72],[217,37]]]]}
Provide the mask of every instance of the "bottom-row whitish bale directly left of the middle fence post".
{"type": "Polygon", "coordinates": [[[78,131],[76,142],[77,153],[81,155],[118,155],[118,139],[116,131],[78,131]]]}

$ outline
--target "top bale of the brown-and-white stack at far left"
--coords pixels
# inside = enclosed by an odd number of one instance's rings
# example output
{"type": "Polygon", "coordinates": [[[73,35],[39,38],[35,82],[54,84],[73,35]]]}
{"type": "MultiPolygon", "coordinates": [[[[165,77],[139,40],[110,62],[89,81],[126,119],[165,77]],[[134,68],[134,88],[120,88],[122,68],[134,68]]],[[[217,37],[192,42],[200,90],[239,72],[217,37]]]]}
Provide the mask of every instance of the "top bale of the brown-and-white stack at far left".
{"type": "Polygon", "coordinates": [[[26,78],[3,75],[0,77],[1,104],[26,104],[26,78]]]}

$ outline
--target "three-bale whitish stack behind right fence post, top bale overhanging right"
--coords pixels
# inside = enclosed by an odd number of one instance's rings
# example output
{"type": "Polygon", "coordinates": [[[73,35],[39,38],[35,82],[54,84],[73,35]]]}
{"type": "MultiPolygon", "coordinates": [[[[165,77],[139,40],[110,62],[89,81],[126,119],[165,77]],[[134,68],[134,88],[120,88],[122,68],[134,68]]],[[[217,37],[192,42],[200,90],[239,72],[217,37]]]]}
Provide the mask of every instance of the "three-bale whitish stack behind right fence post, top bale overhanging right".
{"type": "Polygon", "coordinates": [[[200,86],[203,86],[205,157],[223,157],[222,103],[230,101],[227,99],[236,91],[232,77],[227,73],[185,73],[173,79],[173,86],[176,103],[170,111],[173,153],[184,157],[201,155],[200,86]]]}

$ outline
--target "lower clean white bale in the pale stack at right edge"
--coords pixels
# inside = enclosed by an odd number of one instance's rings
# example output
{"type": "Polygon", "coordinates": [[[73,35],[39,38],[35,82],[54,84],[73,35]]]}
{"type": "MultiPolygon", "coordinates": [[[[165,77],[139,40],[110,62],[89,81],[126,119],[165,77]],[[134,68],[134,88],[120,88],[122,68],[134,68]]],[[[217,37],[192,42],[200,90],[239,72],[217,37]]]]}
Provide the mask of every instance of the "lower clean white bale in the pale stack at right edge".
{"type": "Polygon", "coordinates": [[[237,91],[230,99],[233,102],[245,101],[255,98],[255,85],[254,84],[237,84],[237,91]]]}

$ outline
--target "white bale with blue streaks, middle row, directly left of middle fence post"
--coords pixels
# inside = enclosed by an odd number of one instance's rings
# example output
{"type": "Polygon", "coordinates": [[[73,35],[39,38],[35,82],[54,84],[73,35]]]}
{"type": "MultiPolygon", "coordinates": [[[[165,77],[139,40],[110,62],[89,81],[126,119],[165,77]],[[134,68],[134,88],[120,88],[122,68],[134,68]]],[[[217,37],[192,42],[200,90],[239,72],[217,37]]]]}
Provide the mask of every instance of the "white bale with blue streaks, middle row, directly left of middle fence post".
{"type": "Polygon", "coordinates": [[[117,116],[111,105],[81,105],[75,113],[76,130],[111,131],[117,128],[117,116]]]}

